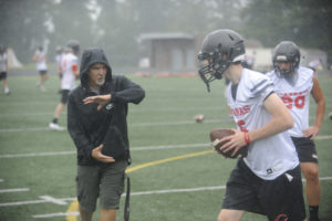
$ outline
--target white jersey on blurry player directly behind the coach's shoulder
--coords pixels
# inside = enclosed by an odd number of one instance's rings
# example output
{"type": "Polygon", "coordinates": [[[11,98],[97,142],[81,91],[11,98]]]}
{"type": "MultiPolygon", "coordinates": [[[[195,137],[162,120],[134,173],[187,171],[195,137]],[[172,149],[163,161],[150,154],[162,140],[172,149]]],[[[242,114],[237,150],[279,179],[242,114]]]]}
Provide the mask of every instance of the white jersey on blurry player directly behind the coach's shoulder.
{"type": "Polygon", "coordinates": [[[77,70],[77,56],[72,53],[66,53],[61,60],[61,88],[73,90],[75,87],[74,71],[77,70]]]}

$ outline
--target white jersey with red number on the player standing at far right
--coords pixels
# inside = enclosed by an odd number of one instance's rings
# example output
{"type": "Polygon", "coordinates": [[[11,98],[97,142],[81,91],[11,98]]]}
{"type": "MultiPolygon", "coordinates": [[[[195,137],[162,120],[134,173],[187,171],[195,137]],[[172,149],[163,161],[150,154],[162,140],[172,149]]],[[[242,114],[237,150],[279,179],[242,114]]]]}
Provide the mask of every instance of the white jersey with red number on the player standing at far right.
{"type": "Polygon", "coordinates": [[[274,71],[267,73],[267,76],[272,80],[276,93],[294,118],[294,126],[289,129],[290,135],[303,137],[303,130],[309,127],[309,104],[314,72],[300,66],[292,78],[279,77],[274,71]]]}

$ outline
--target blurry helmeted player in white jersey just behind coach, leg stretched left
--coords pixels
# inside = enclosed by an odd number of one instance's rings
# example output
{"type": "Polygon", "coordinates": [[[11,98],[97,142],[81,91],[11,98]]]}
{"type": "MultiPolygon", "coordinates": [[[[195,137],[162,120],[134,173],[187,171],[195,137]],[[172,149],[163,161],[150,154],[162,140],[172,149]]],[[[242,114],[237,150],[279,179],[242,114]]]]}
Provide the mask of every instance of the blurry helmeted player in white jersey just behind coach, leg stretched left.
{"type": "Polygon", "coordinates": [[[61,101],[58,104],[53,120],[49,124],[49,127],[54,130],[64,130],[64,127],[59,126],[59,117],[68,103],[69,93],[75,87],[75,80],[80,78],[79,73],[79,42],[70,42],[68,44],[66,54],[61,59],[61,101]]]}

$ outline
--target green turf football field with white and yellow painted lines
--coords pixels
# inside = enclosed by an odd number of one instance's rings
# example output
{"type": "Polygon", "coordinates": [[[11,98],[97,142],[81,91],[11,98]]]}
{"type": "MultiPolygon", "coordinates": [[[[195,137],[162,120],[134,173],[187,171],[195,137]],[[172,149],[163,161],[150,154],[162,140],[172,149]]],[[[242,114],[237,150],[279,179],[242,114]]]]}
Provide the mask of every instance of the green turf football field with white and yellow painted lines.
{"type": "MultiPolygon", "coordinates": [[[[133,164],[132,221],[210,221],[220,210],[225,185],[236,160],[210,150],[209,130],[235,127],[228,118],[224,82],[211,93],[197,77],[134,77],[146,90],[129,106],[133,164]],[[196,114],[205,122],[197,124],[196,114]],[[148,164],[152,162],[152,164],[148,164]],[[139,167],[142,166],[142,167],[139,167]]],[[[60,101],[51,76],[41,93],[38,76],[9,77],[11,95],[0,86],[0,221],[79,220],[75,203],[75,147],[66,131],[49,130],[60,101]]],[[[332,78],[320,77],[332,112],[332,78]]],[[[314,115],[311,105],[311,122],[314,115]]],[[[63,113],[60,124],[66,125],[63,113]]],[[[322,221],[332,220],[332,120],[325,117],[315,144],[322,178],[322,221]]],[[[123,203],[117,220],[123,220],[123,203]]],[[[94,214],[98,220],[98,214],[94,214]]],[[[267,220],[247,213],[246,221],[267,220]]]]}

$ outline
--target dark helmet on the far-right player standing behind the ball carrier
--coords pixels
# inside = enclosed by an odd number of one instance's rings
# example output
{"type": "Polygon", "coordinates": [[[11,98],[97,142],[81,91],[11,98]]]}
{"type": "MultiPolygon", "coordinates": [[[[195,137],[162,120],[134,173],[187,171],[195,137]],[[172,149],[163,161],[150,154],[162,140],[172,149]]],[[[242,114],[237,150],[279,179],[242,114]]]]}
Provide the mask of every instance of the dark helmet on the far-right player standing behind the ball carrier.
{"type": "Polygon", "coordinates": [[[290,76],[299,69],[300,64],[300,50],[294,42],[291,41],[282,41],[280,42],[273,50],[272,54],[272,63],[276,73],[279,76],[290,76]],[[280,70],[278,66],[278,62],[290,62],[290,70],[280,70]]]}

